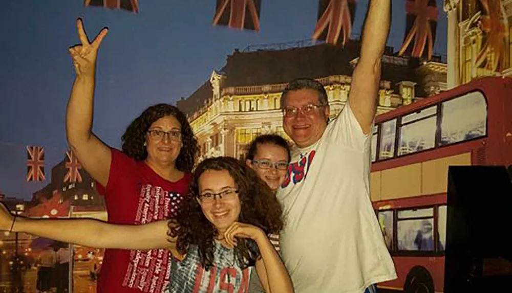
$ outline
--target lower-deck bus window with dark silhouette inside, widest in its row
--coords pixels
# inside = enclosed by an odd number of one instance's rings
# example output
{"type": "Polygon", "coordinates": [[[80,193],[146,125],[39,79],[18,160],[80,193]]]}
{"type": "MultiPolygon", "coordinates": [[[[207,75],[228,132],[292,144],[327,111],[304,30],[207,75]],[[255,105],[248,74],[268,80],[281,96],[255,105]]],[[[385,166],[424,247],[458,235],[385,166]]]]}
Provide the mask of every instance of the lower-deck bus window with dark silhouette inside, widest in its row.
{"type": "Polygon", "coordinates": [[[398,211],[398,250],[434,251],[433,230],[434,208],[398,211]]]}

